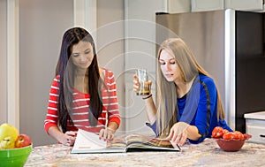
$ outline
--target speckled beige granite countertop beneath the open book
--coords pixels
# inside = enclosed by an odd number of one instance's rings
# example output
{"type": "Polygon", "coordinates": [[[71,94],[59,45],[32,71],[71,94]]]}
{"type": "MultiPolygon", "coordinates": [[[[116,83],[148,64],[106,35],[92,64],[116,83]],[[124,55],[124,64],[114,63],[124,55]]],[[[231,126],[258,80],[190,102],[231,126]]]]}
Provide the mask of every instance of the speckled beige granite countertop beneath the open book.
{"type": "Polygon", "coordinates": [[[180,152],[71,154],[60,144],[34,147],[25,166],[264,166],[265,145],[247,142],[238,152],[224,152],[215,140],[186,143],[180,152]]]}

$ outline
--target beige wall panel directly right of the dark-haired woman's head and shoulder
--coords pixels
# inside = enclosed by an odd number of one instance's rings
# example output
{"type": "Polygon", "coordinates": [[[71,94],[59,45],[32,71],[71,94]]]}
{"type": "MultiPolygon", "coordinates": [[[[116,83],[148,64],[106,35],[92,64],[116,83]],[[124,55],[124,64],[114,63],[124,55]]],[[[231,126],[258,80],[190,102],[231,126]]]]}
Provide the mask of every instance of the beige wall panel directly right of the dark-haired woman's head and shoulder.
{"type": "Polygon", "coordinates": [[[96,49],[99,65],[114,72],[121,124],[125,130],[125,25],[124,0],[97,0],[96,49]],[[114,3],[115,2],[115,3],[114,3]]]}

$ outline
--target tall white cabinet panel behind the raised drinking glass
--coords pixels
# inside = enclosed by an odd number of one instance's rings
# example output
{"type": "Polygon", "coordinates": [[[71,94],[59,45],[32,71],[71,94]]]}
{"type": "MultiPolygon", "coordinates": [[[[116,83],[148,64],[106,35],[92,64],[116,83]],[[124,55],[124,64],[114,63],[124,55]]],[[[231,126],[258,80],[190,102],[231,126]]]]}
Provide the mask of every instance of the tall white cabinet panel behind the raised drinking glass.
{"type": "Polygon", "coordinates": [[[151,133],[145,105],[133,92],[136,69],[148,70],[155,101],[155,12],[166,11],[163,0],[125,0],[125,119],[126,133],[151,133]],[[144,2],[144,3],[143,3],[144,2]]]}

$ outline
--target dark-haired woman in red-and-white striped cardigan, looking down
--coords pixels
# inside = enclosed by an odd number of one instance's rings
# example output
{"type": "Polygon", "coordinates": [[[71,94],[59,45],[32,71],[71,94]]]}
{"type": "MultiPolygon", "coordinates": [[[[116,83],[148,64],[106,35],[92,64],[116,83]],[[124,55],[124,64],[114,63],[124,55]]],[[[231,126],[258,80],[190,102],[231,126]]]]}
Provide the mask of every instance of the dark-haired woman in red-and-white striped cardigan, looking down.
{"type": "Polygon", "coordinates": [[[79,128],[112,140],[119,124],[113,72],[98,67],[91,34],[80,27],[67,30],[50,87],[46,132],[72,146],[79,128]]]}

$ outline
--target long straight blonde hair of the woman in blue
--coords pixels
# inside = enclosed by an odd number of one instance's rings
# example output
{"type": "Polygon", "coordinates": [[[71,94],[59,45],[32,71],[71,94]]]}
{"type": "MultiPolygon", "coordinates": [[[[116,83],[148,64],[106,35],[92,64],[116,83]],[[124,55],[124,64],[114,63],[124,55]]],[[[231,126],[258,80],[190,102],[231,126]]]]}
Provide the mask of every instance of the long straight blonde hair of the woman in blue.
{"type": "MultiPolygon", "coordinates": [[[[180,68],[180,75],[185,82],[190,82],[199,73],[212,78],[193,56],[193,52],[180,38],[170,38],[164,41],[157,52],[159,60],[161,51],[165,49],[175,57],[180,68]]],[[[165,137],[170,133],[172,125],[177,123],[177,90],[176,84],[169,82],[163,77],[159,61],[157,61],[157,133],[165,137]]],[[[217,87],[216,87],[217,89],[217,87]]],[[[217,118],[224,118],[223,105],[217,89],[217,118]]]]}

